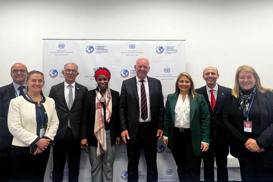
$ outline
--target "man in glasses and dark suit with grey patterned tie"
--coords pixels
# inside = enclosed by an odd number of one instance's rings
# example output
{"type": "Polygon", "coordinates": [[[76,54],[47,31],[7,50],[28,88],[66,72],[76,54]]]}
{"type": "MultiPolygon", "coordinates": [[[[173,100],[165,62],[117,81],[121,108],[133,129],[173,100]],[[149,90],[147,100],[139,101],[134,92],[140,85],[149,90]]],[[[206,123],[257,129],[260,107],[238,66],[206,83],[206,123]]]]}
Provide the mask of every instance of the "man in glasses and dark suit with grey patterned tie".
{"type": "Polygon", "coordinates": [[[68,181],[78,181],[81,154],[80,122],[83,96],[88,91],[85,86],[75,82],[79,75],[77,64],[70,62],[64,65],[65,81],[53,86],[49,97],[56,104],[59,128],[54,138],[53,147],[53,182],[62,182],[64,165],[68,161],[68,181]]]}

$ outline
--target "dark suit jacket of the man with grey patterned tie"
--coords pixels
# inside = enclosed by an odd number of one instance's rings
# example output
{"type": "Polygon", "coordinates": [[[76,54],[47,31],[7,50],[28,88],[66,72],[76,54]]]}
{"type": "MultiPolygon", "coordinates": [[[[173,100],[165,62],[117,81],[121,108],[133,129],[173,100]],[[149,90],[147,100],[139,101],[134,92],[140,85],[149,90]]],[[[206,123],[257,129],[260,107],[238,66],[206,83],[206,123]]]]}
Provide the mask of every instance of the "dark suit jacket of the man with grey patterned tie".
{"type": "Polygon", "coordinates": [[[59,118],[59,128],[57,130],[54,141],[62,142],[66,129],[68,118],[71,124],[71,130],[75,140],[80,140],[80,124],[82,116],[83,98],[88,91],[87,87],[75,82],[75,99],[69,111],[64,96],[64,82],[51,87],[49,97],[54,99],[55,108],[59,118]]]}

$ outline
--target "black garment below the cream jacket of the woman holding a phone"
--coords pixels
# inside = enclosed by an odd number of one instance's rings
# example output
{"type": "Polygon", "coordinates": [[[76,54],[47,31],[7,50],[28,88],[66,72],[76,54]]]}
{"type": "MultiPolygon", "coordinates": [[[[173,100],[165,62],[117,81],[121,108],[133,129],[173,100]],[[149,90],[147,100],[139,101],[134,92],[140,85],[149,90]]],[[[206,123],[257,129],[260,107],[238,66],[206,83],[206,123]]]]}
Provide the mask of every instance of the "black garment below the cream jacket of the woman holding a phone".
{"type": "Polygon", "coordinates": [[[30,147],[12,148],[10,182],[43,182],[50,146],[40,154],[30,154],[30,147]]]}

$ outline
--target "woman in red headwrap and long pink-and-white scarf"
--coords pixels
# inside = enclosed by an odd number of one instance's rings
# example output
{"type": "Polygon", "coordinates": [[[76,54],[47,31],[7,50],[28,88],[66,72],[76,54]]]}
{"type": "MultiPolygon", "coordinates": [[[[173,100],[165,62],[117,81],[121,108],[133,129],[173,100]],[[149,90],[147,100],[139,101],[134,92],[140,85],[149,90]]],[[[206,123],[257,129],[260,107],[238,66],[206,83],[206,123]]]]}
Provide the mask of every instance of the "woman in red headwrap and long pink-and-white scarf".
{"type": "Polygon", "coordinates": [[[119,93],[109,88],[107,68],[95,72],[97,87],[87,92],[83,103],[81,147],[89,149],[92,181],[113,181],[116,146],[121,144],[119,93]]]}

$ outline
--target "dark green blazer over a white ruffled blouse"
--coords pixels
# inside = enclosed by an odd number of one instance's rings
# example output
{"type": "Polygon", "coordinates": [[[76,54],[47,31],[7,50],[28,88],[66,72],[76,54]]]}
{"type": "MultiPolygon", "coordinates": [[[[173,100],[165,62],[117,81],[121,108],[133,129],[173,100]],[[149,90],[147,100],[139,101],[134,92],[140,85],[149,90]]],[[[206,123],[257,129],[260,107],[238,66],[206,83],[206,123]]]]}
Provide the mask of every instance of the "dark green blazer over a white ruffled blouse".
{"type": "MultiPolygon", "coordinates": [[[[173,129],[174,129],[174,109],[177,103],[178,95],[169,94],[166,101],[164,115],[164,135],[168,137],[168,146],[173,149],[173,129]]],[[[192,147],[194,155],[200,156],[201,141],[209,143],[211,141],[210,115],[207,102],[202,94],[196,94],[195,99],[190,95],[190,129],[192,137],[192,147]]]]}

